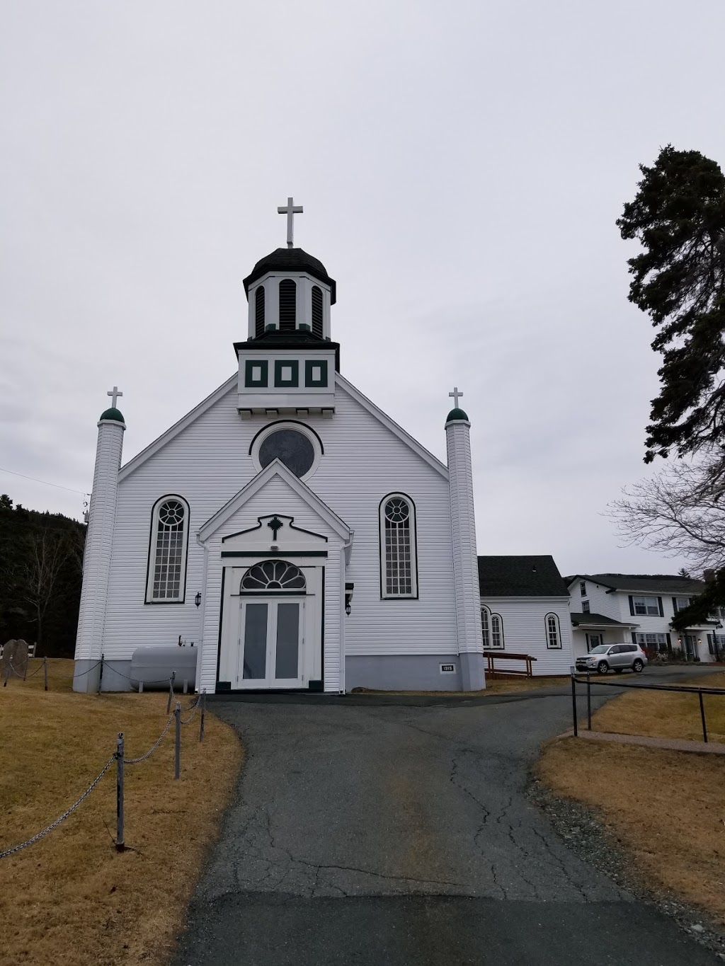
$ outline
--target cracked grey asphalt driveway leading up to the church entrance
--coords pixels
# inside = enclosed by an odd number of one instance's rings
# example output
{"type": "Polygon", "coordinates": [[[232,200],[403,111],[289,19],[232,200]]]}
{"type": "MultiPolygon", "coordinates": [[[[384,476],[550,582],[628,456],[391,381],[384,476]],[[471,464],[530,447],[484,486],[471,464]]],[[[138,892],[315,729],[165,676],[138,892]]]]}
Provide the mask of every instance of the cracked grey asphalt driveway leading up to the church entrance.
{"type": "Polygon", "coordinates": [[[215,702],[246,766],[177,966],[718,962],[528,801],[566,696],[215,702]]]}

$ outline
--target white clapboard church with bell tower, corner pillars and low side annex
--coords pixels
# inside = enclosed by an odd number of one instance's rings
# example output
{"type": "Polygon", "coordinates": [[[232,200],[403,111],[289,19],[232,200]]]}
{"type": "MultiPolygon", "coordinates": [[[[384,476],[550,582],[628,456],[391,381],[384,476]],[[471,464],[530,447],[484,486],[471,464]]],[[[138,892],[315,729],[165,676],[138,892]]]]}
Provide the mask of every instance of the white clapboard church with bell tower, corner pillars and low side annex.
{"type": "Polygon", "coordinates": [[[484,651],[566,673],[551,557],[478,557],[460,393],[444,464],[341,374],[335,282],[294,247],[301,209],[279,211],[287,247],[244,280],[233,376],[125,465],[109,393],[73,687],[97,690],[102,671],[103,690],[128,689],[134,651],[179,641],[210,694],[472,691],[484,651]]]}

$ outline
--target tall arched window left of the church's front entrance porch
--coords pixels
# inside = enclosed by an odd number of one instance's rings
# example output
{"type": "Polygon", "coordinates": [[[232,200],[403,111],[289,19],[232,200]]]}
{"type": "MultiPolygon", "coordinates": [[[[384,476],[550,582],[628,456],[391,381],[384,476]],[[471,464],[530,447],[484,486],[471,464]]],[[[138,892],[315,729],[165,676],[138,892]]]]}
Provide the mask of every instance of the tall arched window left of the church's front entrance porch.
{"type": "Polygon", "coordinates": [[[151,514],[147,604],[183,604],[187,581],[188,503],[161,497],[151,514]]]}

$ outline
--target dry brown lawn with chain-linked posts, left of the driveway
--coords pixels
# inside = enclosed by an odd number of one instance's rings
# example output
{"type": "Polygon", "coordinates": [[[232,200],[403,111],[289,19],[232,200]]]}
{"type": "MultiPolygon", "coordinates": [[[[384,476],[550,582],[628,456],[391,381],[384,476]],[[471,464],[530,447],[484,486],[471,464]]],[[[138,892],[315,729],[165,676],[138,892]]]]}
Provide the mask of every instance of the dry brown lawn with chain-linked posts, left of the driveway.
{"type": "MultiPolygon", "coordinates": [[[[40,662],[31,662],[30,670],[40,662]]],[[[78,798],[126,737],[126,756],[153,745],[166,696],[76,695],[60,675],[73,662],[0,688],[0,851],[39,832],[78,798]]],[[[186,707],[191,698],[182,698],[186,707]]],[[[174,726],[160,748],[126,768],[126,842],[118,853],[115,764],[58,829],[0,861],[0,963],[133,966],[163,963],[242,763],[234,731],[207,715],[182,728],[173,779],[174,726]],[[109,831],[110,830],[110,831],[109,831]]]]}

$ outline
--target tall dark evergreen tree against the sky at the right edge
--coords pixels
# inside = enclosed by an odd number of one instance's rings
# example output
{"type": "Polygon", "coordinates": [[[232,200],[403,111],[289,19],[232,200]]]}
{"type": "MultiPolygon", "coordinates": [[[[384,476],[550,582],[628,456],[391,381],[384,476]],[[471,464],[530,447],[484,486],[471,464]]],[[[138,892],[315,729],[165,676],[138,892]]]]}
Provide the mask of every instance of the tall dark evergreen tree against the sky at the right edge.
{"type": "Polygon", "coordinates": [[[698,151],[663,148],[618,219],[629,259],[629,300],[659,330],[661,389],[652,400],[645,462],[717,448],[725,469],[725,176],[698,151]]]}

